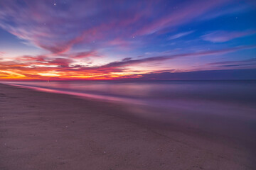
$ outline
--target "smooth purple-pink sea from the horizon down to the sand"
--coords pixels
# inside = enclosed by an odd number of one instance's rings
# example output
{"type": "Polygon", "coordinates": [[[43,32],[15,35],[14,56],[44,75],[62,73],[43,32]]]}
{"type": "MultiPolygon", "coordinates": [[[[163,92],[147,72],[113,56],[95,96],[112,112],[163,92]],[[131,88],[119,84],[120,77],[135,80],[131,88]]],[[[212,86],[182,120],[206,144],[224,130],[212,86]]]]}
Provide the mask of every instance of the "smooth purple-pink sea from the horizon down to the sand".
{"type": "MultiPolygon", "coordinates": [[[[16,86],[124,103],[133,116],[255,143],[256,81],[16,81],[16,86]]],[[[118,113],[117,113],[118,114],[118,113]]]]}

